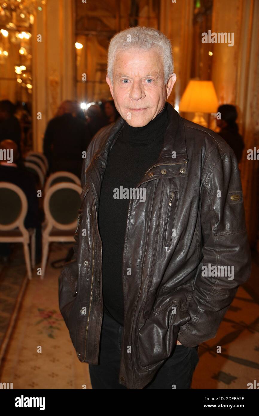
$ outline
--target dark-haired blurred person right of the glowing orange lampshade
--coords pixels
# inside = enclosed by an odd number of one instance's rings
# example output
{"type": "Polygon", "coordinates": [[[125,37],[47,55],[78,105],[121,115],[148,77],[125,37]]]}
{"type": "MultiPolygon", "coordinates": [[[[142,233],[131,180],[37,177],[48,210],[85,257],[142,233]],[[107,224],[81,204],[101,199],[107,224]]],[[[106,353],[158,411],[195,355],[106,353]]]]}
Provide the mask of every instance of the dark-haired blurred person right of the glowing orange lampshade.
{"type": "Polygon", "coordinates": [[[244,140],[238,131],[237,109],[234,105],[223,104],[218,107],[217,112],[221,114],[221,119],[217,120],[217,126],[220,127],[218,134],[234,150],[238,163],[242,159],[244,150],[244,140]]]}

